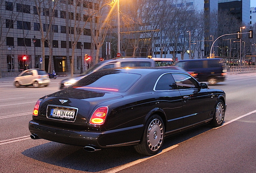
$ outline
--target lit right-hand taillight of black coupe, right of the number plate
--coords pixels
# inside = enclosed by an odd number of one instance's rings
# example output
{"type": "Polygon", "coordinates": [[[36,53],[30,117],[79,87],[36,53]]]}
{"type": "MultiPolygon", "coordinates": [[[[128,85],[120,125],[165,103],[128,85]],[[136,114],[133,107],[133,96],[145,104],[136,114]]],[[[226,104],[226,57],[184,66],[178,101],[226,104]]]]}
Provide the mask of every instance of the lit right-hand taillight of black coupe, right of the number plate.
{"type": "Polygon", "coordinates": [[[91,116],[90,124],[91,125],[103,125],[105,122],[105,119],[107,117],[108,107],[99,107],[91,116]]]}

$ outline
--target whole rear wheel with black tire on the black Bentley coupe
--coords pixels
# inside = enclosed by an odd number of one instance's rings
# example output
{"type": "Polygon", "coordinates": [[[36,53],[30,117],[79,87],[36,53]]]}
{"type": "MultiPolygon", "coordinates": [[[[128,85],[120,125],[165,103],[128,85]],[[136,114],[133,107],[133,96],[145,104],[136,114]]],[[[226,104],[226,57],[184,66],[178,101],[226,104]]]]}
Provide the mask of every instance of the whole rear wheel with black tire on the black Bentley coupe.
{"type": "Polygon", "coordinates": [[[165,127],[163,120],[159,115],[153,115],[145,125],[142,140],[134,148],[142,155],[155,155],[160,151],[164,137],[165,127]]]}

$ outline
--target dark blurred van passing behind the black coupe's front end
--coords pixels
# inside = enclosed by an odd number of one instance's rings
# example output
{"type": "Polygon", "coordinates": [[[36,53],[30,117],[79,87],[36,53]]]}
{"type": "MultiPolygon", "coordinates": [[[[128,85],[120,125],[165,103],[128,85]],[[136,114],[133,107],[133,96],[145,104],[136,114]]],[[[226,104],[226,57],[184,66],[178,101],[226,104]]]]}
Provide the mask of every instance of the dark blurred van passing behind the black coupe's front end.
{"type": "Polygon", "coordinates": [[[175,66],[195,72],[199,82],[207,81],[211,85],[223,82],[227,74],[226,62],[221,58],[180,60],[175,66]]]}

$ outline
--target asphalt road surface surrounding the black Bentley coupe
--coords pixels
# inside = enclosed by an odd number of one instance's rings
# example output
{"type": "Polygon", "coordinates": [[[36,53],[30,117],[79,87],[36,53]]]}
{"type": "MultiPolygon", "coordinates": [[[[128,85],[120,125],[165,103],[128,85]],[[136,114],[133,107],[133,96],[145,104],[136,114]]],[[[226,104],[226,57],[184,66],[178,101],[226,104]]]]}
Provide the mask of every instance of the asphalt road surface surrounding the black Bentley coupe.
{"type": "Polygon", "coordinates": [[[0,79],[0,173],[255,173],[256,73],[227,78],[209,86],[227,94],[225,123],[166,138],[153,157],[139,155],[133,147],[88,153],[82,147],[30,139],[28,122],[37,99],[58,91],[63,78],[40,88],[15,88],[12,78],[0,79]]]}

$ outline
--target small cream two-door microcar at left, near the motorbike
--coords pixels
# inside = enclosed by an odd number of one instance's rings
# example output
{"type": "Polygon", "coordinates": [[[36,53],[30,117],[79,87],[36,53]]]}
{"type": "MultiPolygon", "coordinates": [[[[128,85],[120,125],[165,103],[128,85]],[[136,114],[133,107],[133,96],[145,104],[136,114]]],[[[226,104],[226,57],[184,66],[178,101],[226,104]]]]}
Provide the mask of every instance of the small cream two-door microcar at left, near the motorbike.
{"type": "Polygon", "coordinates": [[[14,86],[29,86],[33,85],[33,87],[39,87],[40,85],[44,85],[47,87],[50,84],[50,79],[48,77],[48,73],[44,70],[40,69],[28,69],[16,78],[14,78],[14,86]]]}

